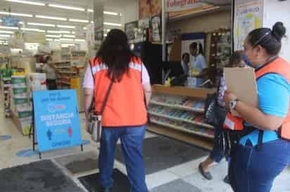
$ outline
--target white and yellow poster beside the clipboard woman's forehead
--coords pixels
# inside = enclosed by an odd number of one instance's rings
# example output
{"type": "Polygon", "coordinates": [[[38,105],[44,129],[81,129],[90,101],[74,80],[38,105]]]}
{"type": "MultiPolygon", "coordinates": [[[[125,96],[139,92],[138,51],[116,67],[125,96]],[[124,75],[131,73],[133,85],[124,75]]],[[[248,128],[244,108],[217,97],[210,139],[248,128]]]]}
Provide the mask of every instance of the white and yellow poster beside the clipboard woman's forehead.
{"type": "Polygon", "coordinates": [[[243,50],[244,40],[253,29],[261,27],[263,0],[236,0],[234,11],[234,50],[243,50]]]}

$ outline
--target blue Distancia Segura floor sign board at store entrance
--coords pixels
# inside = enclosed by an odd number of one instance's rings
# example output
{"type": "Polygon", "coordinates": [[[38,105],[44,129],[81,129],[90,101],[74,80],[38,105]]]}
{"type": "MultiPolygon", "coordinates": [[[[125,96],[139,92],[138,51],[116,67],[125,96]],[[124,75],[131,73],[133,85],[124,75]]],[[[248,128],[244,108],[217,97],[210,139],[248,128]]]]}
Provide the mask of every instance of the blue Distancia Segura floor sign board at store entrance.
{"type": "Polygon", "coordinates": [[[82,144],[75,90],[34,91],[33,103],[40,152],[82,144]]]}

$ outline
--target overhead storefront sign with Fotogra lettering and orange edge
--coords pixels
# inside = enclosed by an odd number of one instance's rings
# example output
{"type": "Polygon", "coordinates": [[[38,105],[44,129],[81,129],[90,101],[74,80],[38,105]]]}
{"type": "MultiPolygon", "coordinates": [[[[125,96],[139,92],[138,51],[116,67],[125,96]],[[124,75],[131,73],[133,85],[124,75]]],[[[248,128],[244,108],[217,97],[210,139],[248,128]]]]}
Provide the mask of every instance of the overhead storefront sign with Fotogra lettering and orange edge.
{"type": "Polygon", "coordinates": [[[167,0],[170,18],[204,11],[213,7],[214,6],[203,3],[202,0],[167,0]]]}

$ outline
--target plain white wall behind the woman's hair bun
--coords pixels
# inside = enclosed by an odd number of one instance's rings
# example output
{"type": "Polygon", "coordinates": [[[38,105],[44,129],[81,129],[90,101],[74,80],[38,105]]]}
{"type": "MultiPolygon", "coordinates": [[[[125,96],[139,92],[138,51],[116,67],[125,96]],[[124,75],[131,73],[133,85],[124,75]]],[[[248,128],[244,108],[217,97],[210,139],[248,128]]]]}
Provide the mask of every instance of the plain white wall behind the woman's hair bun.
{"type": "Polygon", "coordinates": [[[290,1],[264,0],[263,27],[272,28],[277,21],[283,22],[287,30],[288,38],[282,42],[281,56],[290,62],[290,1]]]}

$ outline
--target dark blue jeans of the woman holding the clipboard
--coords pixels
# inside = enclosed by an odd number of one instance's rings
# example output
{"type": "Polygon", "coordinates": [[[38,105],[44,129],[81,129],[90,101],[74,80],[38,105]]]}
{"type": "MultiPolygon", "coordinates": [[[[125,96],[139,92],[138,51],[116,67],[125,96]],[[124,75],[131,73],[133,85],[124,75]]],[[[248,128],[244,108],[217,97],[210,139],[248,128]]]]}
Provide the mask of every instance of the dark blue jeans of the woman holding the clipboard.
{"type": "Polygon", "coordinates": [[[260,151],[247,142],[238,145],[229,165],[235,192],[270,192],[274,179],[289,165],[290,142],[279,139],[262,145],[260,151]]]}

